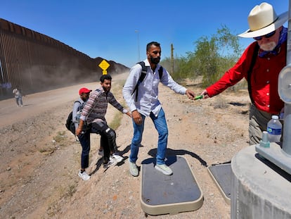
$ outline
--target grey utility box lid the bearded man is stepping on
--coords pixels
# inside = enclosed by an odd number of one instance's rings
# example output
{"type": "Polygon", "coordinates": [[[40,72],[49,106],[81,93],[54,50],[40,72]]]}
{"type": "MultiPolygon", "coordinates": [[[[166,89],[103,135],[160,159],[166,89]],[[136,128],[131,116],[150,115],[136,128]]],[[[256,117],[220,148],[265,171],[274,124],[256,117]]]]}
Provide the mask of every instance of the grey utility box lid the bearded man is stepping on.
{"type": "Polygon", "coordinates": [[[203,196],[188,162],[181,156],[167,158],[172,175],[155,170],[155,158],[141,162],[141,208],[149,215],[195,211],[203,196]]]}

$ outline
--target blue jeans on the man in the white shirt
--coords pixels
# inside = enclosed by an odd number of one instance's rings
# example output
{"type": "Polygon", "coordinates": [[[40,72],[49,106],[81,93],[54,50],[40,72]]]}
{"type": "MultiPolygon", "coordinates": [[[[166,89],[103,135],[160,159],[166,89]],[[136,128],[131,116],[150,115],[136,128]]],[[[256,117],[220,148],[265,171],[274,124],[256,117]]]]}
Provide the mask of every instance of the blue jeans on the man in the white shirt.
{"type": "MultiPolygon", "coordinates": [[[[134,120],[132,120],[132,123],[134,125],[134,137],[131,140],[131,146],[130,146],[130,155],[129,155],[129,161],[131,163],[136,163],[136,160],[138,158],[138,149],[141,145],[141,139],[143,138],[143,127],[145,125],[145,116],[141,115],[143,122],[141,125],[137,125],[134,123],[134,120]]],[[[168,127],[167,127],[167,121],[164,116],[164,111],[161,108],[159,114],[157,117],[153,113],[150,113],[150,118],[153,120],[153,123],[155,125],[155,129],[157,130],[157,133],[159,134],[159,139],[157,142],[157,164],[164,164],[164,158],[166,158],[166,151],[167,151],[167,143],[168,143],[168,127]]]]}

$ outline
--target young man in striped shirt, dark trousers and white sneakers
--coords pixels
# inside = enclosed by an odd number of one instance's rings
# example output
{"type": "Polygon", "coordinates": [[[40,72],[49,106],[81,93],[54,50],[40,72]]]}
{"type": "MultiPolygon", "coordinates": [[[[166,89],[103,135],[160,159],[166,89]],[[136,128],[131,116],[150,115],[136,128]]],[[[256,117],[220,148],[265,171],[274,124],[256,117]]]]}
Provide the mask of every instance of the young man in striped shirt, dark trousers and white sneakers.
{"type": "Polygon", "coordinates": [[[76,134],[83,148],[81,157],[82,169],[79,172],[79,177],[83,180],[89,180],[90,178],[85,172],[85,169],[89,166],[90,132],[101,135],[101,145],[104,151],[103,168],[108,168],[110,165],[115,165],[120,161],[121,156],[117,154],[117,149],[115,148],[115,130],[112,130],[112,128],[108,126],[105,119],[108,103],[130,117],[131,114],[117,102],[115,96],[110,92],[111,80],[112,77],[110,75],[101,76],[101,87],[91,92],[89,95],[89,99],[86,101],[82,110],[79,126],[76,130],[76,134]],[[85,123],[90,127],[90,130],[84,130],[85,123]],[[86,176],[83,177],[83,175],[86,176]]]}

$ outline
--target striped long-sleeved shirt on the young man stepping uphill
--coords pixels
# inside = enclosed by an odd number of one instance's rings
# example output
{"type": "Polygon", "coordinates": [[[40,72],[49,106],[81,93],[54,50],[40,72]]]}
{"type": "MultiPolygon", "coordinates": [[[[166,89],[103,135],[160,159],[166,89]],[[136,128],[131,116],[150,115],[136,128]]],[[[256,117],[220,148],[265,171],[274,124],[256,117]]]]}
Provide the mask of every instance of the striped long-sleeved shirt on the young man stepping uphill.
{"type": "Polygon", "coordinates": [[[91,92],[86,102],[80,120],[86,121],[87,124],[93,123],[96,119],[106,121],[105,114],[107,112],[108,103],[117,108],[122,113],[127,113],[122,105],[120,105],[115,96],[111,92],[105,92],[103,87],[91,92]]]}

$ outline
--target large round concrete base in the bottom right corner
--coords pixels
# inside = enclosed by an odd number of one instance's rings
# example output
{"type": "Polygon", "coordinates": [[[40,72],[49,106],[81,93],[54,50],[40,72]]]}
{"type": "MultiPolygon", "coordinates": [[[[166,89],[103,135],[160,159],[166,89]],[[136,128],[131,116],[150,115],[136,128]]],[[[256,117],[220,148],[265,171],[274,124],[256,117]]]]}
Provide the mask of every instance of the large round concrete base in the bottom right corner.
{"type": "Polygon", "coordinates": [[[291,176],[248,146],[231,160],[231,218],[291,218],[291,176]]]}

